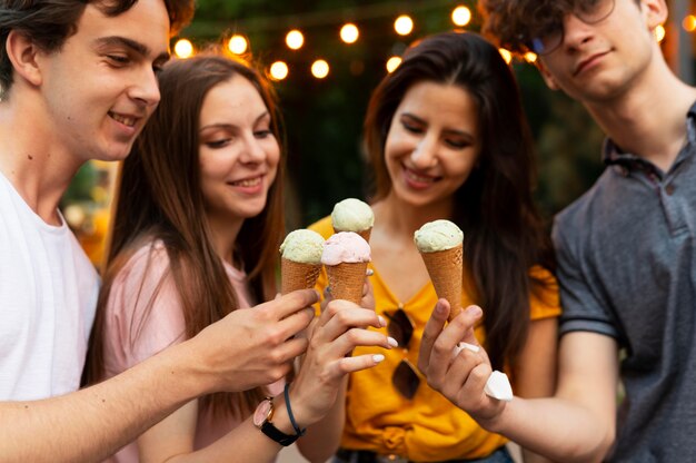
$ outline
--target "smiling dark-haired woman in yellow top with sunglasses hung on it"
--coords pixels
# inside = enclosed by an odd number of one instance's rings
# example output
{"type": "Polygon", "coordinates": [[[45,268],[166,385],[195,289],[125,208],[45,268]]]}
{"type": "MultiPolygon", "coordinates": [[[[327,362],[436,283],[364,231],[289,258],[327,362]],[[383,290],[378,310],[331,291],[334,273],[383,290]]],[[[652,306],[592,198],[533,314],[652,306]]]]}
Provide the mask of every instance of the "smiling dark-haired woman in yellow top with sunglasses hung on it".
{"type": "MultiPolygon", "coordinates": [[[[558,296],[550,243],[533,204],[533,147],[515,79],[477,35],[426,38],[372,93],[365,142],[376,178],[370,282],[400,348],[378,368],[351,375],[335,462],[509,462],[503,436],[415,371],[437,296],[412,237],[440,218],[464,230],[461,305],[484,308],[478,341],[517,395],[550,395],[558,296]]],[[[330,218],[311,228],[332,234],[330,218]]]]}

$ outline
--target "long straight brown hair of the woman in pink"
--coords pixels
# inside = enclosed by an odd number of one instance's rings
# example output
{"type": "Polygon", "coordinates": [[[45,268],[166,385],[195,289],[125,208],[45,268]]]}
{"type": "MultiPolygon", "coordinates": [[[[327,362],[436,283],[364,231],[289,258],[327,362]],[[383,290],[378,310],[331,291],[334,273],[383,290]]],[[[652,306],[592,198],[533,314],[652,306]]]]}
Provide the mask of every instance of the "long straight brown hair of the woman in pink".
{"type": "MultiPolygon", "coordinates": [[[[165,244],[170,269],[162,282],[172,278],[179,292],[187,337],[238,308],[205,218],[199,162],[203,99],[211,88],[232,78],[245,78],[256,87],[271,115],[271,130],[280,144],[275,93],[251,66],[213,51],[165,66],[159,76],[161,102],[119,173],[107,270],[90,339],[86,375],[90,383],[105,375],[102,339],[110,289],[116,276],[141,246],[153,240],[165,244]]],[[[266,207],[243,221],[236,243],[235,254],[243,263],[258,302],[276,293],[278,246],[284,235],[282,164],[281,160],[278,165],[266,207]]],[[[156,297],[157,292],[152,299],[156,297]]],[[[216,413],[243,414],[253,410],[262,395],[260,388],[213,394],[203,397],[203,405],[212,406],[216,413]]]]}

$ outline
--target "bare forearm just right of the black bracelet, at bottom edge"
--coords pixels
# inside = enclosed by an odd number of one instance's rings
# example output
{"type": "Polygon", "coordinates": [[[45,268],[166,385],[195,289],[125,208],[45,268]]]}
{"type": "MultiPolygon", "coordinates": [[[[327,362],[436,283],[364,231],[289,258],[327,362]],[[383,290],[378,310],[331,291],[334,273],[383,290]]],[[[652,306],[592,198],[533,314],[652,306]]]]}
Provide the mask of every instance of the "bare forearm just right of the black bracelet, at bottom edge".
{"type": "Polygon", "coordinates": [[[346,388],[348,376],[341,380],[340,391],[329,413],[307,428],[307,434],[297,441],[297,446],[310,462],[326,462],[336,453],[346,422],[346,388]]]}

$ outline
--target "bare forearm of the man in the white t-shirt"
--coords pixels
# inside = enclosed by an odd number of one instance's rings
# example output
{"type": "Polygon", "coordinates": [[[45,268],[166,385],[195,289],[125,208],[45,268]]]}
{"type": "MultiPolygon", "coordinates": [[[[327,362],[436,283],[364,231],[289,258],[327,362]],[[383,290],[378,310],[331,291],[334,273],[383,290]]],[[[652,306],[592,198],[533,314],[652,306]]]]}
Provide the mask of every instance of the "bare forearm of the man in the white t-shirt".
{"type": "Polygon", "coordinates": [[[198,395],[181,345],[92,387],[0,404],[3,462],[97,462],[198,395]]]}

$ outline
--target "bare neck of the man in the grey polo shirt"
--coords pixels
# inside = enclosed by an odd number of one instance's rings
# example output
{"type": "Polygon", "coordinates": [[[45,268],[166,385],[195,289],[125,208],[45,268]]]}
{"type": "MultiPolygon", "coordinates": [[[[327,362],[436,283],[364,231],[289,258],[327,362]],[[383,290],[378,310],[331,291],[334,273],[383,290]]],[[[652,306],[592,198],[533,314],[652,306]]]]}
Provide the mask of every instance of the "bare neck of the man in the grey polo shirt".
{"type": "Polygon", "coordinates": [[[696,89],[660,59],[617,98],[585,106],[622,150],[666,171],[684,145],[686,115],[695,100],[696,89]]]}

